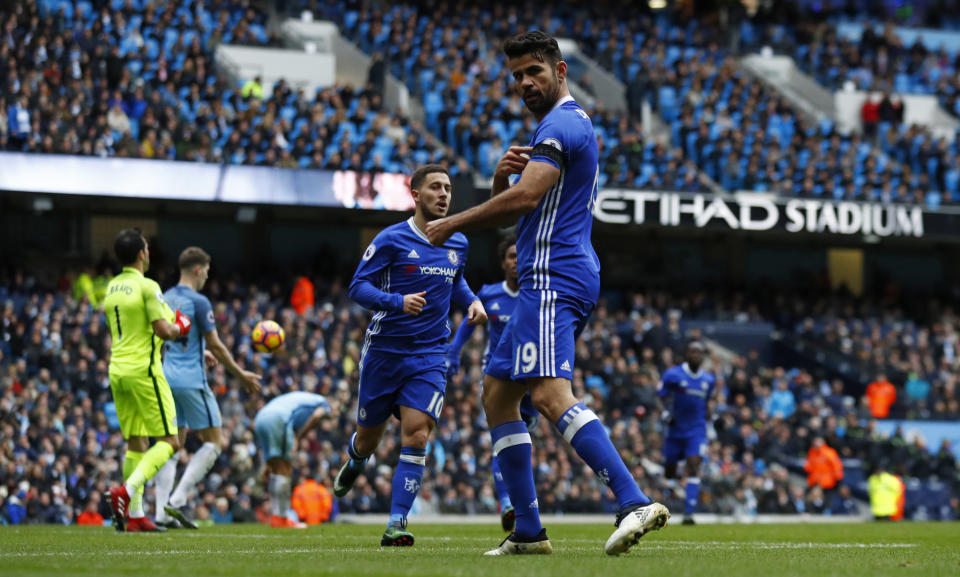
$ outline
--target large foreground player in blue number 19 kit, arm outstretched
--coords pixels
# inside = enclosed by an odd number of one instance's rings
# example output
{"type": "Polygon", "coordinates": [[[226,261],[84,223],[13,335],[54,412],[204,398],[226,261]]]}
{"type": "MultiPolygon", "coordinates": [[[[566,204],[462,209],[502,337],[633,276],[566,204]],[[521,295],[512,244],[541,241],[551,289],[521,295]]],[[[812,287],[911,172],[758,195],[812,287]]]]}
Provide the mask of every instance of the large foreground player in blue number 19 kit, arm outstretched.
{"type": "Polygon", "coordinates": [[[528,147],[511,147],[494,171],[492,198],[427,225],[437,245],[457,232],[517,225],[520,295],[484,380],[483,406],[516,528],[489,555],[552,551],[540,525],[531,468],[532,446],[520,418],[527,391],[617,497],[617,529],[609,555],[625,553],[646,532],[663,527],[666,507],[637,486],[596,414],[572,393],[574,345],[600,291],[600,263],[590,243],[599,166],[590,117],[570,96],[557,41],[524,32],[504,43],[517,91],[539,122],[528,147]],[[511,174],[520,174],[510,185],[511,174]]]}

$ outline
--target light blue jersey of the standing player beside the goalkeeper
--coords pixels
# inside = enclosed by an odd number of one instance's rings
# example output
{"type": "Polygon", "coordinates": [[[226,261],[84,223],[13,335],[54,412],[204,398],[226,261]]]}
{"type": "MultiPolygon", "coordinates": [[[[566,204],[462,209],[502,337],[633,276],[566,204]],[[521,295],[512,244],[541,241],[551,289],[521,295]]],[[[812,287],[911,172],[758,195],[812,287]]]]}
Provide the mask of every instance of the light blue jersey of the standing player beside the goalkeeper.
{"type": "Polygon", "coordinates": [[[190,287],[177,285],[164,293],[173,309],[190,317],[193,328],[186,336],[164,345],[163,374],[171,389],[207,388],[207,370],[203,360],[204,335],[216,328],[213,307],[207,297],[190,287]]]}

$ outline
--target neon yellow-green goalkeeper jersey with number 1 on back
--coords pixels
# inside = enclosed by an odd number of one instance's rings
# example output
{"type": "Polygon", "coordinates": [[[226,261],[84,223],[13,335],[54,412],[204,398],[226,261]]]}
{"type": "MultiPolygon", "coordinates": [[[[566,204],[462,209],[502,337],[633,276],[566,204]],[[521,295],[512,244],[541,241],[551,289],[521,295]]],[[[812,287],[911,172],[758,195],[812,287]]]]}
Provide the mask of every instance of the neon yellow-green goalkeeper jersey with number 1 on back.
{"type": "Polygon", "coordinates": [[[141,376],[150,369],[159,372],[163,340],[154,334],[153,322],[174,320],[160,285],[137,269],[124,267],[107,286],[103,309],[113,343],[110,374],[141,376]]]}

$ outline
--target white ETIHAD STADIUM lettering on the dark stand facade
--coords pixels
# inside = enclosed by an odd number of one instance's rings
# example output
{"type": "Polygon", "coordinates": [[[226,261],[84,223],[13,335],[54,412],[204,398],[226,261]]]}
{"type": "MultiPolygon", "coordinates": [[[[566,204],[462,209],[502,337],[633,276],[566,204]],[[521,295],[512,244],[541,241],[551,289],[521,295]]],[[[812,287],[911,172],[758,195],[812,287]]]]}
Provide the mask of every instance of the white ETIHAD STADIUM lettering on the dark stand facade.
{"type": "Polygon", "coordinates": [[[610,224],[920,238],[930,215],[906,204],[607,189],[597,194],[593,216],[610,224]]]}

